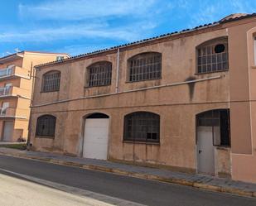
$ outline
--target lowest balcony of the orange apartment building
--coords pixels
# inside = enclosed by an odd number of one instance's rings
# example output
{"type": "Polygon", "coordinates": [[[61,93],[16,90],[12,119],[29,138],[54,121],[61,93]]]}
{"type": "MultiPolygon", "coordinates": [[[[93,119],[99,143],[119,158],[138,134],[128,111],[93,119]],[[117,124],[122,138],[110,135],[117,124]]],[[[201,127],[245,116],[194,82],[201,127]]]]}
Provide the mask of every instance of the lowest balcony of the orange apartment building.
{"type": "Polygon", "coordinates": [[[0,118],[21,118],[27,119],[28,109],[20,108],[0,108],[0,118]]]}

